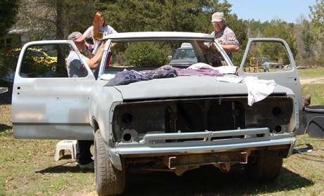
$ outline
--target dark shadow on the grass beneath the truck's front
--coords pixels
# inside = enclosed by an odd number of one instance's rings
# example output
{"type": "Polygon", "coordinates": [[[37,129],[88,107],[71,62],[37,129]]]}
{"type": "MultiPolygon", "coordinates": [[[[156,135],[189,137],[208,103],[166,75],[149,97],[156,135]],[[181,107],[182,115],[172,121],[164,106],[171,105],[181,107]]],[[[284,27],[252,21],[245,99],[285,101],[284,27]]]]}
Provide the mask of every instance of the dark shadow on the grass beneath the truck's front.
{"type": "Polygon", "coordinates": [[[186,171],[182,176],[171,172],[127,174],[123,195],[258,195],[284,192],[313,185],[312,181],[282,168],[280,177],[268,183],[249,180],[242,166],[233,166],[224,174],[211,166],[186,171]]]}

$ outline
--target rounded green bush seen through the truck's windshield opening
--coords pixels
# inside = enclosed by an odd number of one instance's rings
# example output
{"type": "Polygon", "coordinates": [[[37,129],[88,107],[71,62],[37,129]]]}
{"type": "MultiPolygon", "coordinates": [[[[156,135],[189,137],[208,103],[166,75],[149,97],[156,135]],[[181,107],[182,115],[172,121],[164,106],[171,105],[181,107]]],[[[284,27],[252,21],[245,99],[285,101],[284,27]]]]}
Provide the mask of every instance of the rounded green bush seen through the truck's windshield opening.
{"type": "Polygon", "coordinates": [[[160,67],[168,64],[168,54],[158,44],[137,42],[126,49],[125,63],[136,67],[160,67]]]}

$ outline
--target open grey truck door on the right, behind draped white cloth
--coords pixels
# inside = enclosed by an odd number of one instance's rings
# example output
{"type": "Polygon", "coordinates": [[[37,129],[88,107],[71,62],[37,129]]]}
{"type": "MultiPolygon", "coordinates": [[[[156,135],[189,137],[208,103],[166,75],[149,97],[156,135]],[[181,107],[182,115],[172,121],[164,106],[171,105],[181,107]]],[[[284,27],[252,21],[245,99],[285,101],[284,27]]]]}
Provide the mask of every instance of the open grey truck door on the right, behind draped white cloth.
{"type": "Polygon", "coordinates": [[[294,91],[302,110],[301,84],[294,57],[286,41],[275,38],[251,38],[247,44],[239,76],[273,79],[294,91]]]}

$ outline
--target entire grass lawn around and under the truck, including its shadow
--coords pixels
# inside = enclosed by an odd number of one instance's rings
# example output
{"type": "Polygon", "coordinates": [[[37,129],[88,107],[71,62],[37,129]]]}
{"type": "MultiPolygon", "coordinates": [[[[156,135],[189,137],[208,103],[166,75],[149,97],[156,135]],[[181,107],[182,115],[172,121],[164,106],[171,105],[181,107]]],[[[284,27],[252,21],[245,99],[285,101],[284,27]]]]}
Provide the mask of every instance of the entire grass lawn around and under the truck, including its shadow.
{"type": "MultiPolygon", "coordinates": [[[[324,69],[299,70],[299,74],[321,77],[324,69]]],[[[324,105],[323,85],[302,86],[304,95],[312,93],[311,105],[324,105]]],[[[11,105],[0,105],[0,113],[0,195],[96,195],[94,171],[78,169],[70,155],[56,162],[58,141],[13,138],[11,105]]],[[[324,142],[315,140],[297,136],[296,152],[284,159],[282,173],[272,183],[250,181],[241,165],[232,166],[226,174],[206,166],[183,176],[171,172],[127,174],[124,195],[324,196],[324,142]]]]}

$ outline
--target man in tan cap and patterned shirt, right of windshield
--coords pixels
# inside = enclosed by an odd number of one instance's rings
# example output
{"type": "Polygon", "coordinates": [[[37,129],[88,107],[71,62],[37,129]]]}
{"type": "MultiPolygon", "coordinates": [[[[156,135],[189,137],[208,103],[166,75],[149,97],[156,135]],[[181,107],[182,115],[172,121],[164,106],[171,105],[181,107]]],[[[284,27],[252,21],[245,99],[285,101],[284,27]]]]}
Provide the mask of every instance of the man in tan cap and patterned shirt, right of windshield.
{"type": "MultiPolygon", "coordinates": [[[[226,26],[223,13],[213,13],[211,23],[215,29],[215,31],[211,33],[211,36],[215,37],[218,43],[223,47],[224,51],[228,53],[230,59],[232,59],[232,53],[239,51],[239,41],[237,41],[235,33],[226,26]]],[[[202,41],[199,41],[198,44],[204,52],[208,53],[211,65],[214,67],[222,65],[221,61],[223,61],[223,58],[213,44],[207,43],[205,45],[202,41]]]]}

